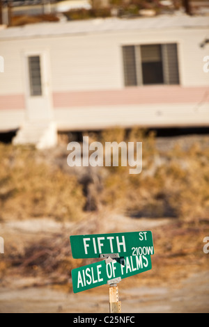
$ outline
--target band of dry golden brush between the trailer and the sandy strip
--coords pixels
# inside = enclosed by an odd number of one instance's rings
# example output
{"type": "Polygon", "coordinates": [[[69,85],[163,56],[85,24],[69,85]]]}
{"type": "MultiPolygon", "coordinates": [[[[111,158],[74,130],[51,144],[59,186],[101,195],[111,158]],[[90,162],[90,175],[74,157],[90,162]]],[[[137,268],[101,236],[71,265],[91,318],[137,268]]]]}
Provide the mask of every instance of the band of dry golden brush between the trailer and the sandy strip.
{"type": "MultiPolygon", "coordinates": [[[[88,210],[109,209],[127,216],[208,217],[209,147],[192,143],[158,150],[153,133],[141,129],[110,129],[90,134],[91,141],[142,141],[143,169],[130,175],[130,167],[102,167],[98,178],[80,179],[42,160],[32,147],[0,144],[0,219],[49,216],[64,221],[83,217],[88,210]],[[88,181],[88,183],[86,182],[88,181]]],[[[67,166],[67,155],[63,155],[67,166]]],[[[93,169],[91,169],[92,175],[93,169]]],[[[86,173],[89,177],[89,173],[86,173]]]]}

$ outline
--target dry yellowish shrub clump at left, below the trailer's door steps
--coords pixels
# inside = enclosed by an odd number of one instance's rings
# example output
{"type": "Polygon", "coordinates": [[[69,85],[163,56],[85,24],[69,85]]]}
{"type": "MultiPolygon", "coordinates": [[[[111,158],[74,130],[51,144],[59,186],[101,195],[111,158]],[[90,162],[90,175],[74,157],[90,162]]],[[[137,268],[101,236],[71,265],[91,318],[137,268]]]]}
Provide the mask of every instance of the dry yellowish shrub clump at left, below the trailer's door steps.
{"type": "Polygon", "coordinates": [[[0,144],[0,218],[82,216],[85,203],[75,176],[43,163],[38,152],[0,144]]]}

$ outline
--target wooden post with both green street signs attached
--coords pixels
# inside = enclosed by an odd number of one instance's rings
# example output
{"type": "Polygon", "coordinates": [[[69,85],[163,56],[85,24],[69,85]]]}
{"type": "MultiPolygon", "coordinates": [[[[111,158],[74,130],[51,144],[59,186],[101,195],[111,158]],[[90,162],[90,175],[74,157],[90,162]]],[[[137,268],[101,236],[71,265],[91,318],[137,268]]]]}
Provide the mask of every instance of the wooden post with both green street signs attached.
{"type": "Polygon", "coordinates": [[[105,258],[72,269],[72,288],[74,293],[78,293],[108,284],[110,313],[121,312],[118,282],[152,269],[150,256],[154,254],[154,247],[150,231],[72,235],[70,244],[75,259],[105,258]]]}

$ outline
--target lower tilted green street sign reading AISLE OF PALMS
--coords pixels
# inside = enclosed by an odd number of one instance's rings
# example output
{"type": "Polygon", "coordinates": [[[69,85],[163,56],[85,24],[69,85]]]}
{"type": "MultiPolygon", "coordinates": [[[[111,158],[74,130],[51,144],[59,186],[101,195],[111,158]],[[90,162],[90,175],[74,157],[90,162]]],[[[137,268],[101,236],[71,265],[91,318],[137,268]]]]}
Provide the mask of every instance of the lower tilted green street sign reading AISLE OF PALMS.
{"type": "Polygon", "coordinates": [[[150,255],[119,257],[108,263],[102,260],[95,264],[88,264],[72,269],[73,292],[86,291],[107,284],[108,280],[119,277],[123,279],[150,269],[152,269],[150,255]]]}

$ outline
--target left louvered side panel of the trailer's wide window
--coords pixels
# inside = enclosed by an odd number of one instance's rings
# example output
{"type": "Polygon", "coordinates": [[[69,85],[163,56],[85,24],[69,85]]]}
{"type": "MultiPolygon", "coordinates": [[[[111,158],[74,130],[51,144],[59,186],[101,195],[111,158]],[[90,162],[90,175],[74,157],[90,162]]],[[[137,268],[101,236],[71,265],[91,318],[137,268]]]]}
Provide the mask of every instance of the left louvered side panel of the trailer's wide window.
{"type": "Polygon", "coordinates": [[[123,47],[123,67],[125,86],[137,86],[135,47],[133,45],[123,47]]]}

